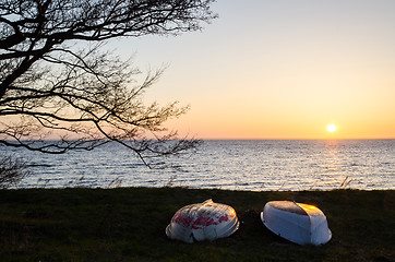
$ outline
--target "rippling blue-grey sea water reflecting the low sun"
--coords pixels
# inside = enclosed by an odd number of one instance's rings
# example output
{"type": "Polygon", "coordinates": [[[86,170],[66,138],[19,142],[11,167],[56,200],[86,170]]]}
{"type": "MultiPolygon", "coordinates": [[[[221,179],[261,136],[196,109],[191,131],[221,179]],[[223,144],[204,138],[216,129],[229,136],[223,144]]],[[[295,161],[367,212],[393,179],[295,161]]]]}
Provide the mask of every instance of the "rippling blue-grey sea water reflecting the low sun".
{"type": "Polygon", "coordinates": [[[173,159],[182,170],[151,170],[116,144],[64,155],[0,151],[31,164],[23,188],[395,189],[395,140],[205,141],[192,156],[173,159]]]}

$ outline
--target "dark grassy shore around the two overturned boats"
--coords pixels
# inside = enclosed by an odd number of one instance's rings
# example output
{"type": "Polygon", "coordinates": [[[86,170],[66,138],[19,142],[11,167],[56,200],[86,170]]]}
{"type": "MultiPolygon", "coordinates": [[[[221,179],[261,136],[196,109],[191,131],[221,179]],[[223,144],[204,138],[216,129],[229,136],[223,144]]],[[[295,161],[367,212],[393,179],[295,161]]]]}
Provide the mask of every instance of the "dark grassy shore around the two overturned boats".
{"type": "Polygon", "coordinates": [[[0,190],[0,261],[395,261],[395,191],[0,190]],[[239,230],[213,242],[169,240],[175,212],[206,199],[231,205],[239,230]],[[300,247],[274,236],[259,218],[271,200],[315,204],[332,240],[300,247]]]}

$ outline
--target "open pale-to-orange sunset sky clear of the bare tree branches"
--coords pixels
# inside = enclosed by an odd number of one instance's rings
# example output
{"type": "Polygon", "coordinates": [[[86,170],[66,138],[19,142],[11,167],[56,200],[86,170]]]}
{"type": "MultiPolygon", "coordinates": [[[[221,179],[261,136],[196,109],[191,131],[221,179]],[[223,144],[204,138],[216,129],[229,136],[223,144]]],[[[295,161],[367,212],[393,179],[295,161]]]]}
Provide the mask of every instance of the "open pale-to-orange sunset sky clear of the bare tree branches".
{"type": "Polygon", "coordinates": [[[200,139],[395,139],[394,0],[218,0],[202,32],[111,43],[200,139]],[[337,127],[330,133],[326,127],[337,127]]]}

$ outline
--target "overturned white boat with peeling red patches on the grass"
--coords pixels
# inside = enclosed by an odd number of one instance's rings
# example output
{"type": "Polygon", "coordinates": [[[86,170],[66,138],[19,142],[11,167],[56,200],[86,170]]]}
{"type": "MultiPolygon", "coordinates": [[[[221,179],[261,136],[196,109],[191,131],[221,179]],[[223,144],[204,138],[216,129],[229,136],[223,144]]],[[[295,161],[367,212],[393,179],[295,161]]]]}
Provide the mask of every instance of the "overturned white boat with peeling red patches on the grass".
{"type": "Polygon", "coordinates": [[[239,219],[231,206],[207,200],[178,210],[166,227],[166,235],[192,243],[228,237],[238,228],[239,219]]]}

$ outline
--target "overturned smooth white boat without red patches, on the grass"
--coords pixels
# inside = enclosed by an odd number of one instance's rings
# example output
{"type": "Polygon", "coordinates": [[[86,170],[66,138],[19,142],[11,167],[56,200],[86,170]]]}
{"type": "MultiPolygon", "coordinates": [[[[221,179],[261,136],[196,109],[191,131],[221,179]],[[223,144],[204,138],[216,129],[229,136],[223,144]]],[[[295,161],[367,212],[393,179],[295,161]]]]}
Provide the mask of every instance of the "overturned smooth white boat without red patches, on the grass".
{"type": "Polygon", "coordinates": [[[326,216],[314,205],[291,201],[267,202],[263,224],[274,234],[298,245],[324,245],[332,238],[326,216]]]}

